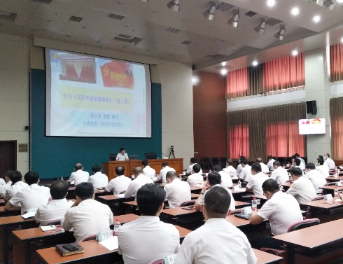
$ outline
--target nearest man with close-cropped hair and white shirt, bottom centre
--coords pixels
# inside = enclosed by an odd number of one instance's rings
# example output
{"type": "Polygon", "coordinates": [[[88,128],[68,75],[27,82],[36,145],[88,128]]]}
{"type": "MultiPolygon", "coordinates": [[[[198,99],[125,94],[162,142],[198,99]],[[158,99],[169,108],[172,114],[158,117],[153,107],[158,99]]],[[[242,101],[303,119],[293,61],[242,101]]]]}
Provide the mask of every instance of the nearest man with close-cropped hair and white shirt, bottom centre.
{"type": "Polygon", "coordinates": [[[174,264],[256,263],[244,232],[226,221],[232,202],[225,188],[208,190],[202,205],[206,222],[186,235],[174,264]]]}

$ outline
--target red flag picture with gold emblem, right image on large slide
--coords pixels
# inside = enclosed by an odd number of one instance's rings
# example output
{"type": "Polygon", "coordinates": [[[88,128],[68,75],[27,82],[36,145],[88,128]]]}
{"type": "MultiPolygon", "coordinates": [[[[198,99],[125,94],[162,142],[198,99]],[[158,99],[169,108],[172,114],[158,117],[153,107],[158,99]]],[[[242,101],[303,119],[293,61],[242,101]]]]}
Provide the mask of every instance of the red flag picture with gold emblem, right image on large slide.
{"type": "Polygon", "coordinates": [[[134,88],[132,64],[126,62],[108,62],[100,67],[104,87],[134,88]]]}

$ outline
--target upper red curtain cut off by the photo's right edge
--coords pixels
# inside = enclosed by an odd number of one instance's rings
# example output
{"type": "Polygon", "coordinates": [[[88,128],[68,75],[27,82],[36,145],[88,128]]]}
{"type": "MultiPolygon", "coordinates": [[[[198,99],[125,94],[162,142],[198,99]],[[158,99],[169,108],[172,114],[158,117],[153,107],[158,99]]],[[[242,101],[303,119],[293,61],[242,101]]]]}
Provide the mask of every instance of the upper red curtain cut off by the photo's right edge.
{"type": "Polygon", "coordinates": [[[330,81],[343,80],[343,44],[330,46],[330,81]]]}

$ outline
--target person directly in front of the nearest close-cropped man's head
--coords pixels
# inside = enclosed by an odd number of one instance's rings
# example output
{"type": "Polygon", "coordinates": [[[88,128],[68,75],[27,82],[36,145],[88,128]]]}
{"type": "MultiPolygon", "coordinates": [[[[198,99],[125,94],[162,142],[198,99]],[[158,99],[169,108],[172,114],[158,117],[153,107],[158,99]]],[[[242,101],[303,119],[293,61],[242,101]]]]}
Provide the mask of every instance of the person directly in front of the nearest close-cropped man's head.
{"type": "MultiPolygon", "coordinates": [[[[204,187],[202,187],[202,191],[200,192],[200,195],[199,197],[197,197],[197,201],[195,202],[195,210],[200,211],[201,205],[204,204],[204,198],[208,189],[211,189],[214,186],[221,186],[221,174],[218,174],[218,172],[210,172],[207,176],[207,181],[204,184],[204,187]]],[[[235,199],[232,196],[231,190],[229,188],[225,188],[225,190],[228,191],[231,197],[230,210],[235,210],[235,199]]]]}

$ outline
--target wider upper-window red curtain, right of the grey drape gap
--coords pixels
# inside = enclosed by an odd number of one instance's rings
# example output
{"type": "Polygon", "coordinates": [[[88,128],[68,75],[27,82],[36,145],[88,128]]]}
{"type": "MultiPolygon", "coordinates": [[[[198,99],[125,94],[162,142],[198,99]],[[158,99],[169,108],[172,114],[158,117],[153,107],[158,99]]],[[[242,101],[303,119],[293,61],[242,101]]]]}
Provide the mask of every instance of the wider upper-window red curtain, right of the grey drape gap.
{"type": "Polygon", "coordinates": [[[265,62],[263,67],[263,88],[265,92],[304,85],[304,53],[265,62]]]}

